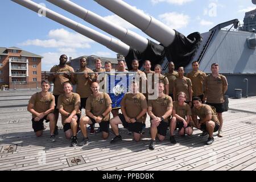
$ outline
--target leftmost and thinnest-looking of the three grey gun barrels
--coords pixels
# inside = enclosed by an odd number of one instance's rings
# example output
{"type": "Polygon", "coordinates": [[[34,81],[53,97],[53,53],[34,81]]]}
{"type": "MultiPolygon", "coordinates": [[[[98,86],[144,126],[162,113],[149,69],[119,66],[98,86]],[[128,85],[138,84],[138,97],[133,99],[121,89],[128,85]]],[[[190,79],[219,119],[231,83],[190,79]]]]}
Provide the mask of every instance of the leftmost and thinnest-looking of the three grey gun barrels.
{"type": "Polygon", "coordinates": [[[30,0],[11,0],[11,1],[18,3],[19,5],[24,6],[27,9],[35,11],[36,13],[45,12],[45,15],[47,18],[52,19],[55,22],[58,22],[60,24],[63,24],[64,26],[69,27],[76,32],[79,32],[80,34],[108,47],[110,50],[114,52],[117,52],[126,56],[130,51],[130,46],[128,46],[127,44],[117,39],[113,39],[113,38],[110,38],[109,36],[101,34],[100,32],[93,30],[92,28],[89,28],[80,23],[77,23],[74,20],[71,20],[63,15],[60,15],[55,11],[49,10],[46,7],[39,5],[35,2],[32,2],[30,0]]]}

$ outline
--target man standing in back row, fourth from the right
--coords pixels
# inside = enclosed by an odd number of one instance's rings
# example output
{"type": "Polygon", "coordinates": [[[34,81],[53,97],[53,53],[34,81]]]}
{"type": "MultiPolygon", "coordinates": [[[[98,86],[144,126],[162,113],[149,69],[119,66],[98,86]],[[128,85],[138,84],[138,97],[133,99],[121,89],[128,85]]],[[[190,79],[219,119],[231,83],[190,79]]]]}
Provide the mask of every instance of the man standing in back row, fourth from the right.
{"type": "Polygon", "coordinates": [[[179,73],[175,70],[174,62],[170,61],[168,64],[168,73],[165,73],[164,76],[167,77],[169,81],[169,96],[171,96],[172,100],[174,101],[174,80],[179,77],[179,73]]]}

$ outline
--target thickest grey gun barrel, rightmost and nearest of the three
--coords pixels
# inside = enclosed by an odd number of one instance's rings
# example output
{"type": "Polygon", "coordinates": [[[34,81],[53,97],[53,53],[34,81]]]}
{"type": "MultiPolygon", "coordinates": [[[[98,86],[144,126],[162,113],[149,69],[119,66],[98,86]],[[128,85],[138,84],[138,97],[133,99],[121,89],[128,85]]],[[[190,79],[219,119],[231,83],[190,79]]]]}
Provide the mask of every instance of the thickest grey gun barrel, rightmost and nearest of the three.
{"type": "Polygon", "coordinates": [[[125,19],[127,22],[138,27],[151,38],[158,40],[158,42],[162,43],[164,47],[168,47],[172,42],[174,42],[174,30],[152,16],[143,14],[141,11],[138,11],[135,7],[127,4],[126,2],[122,0],[94,1],[125,19]]]}

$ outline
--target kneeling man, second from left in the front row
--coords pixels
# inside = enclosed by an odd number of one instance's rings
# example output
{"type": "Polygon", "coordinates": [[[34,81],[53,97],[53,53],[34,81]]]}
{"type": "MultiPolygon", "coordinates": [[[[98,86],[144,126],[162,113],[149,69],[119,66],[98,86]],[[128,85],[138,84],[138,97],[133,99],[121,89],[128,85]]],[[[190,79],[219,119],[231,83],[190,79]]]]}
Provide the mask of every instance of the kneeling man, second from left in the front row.
{"type": "Polygon", "coordinates": [[[77,128],[79,127],[79,119],[81,117],[80,96],[77,93],[73,93],[72,85],[69,82],[63,84],[64,94],[58,98],[57,109],[61,114],[61,122],[65,137],[67,139],[72,137],[71,147],[77,145],[77,128]]]}

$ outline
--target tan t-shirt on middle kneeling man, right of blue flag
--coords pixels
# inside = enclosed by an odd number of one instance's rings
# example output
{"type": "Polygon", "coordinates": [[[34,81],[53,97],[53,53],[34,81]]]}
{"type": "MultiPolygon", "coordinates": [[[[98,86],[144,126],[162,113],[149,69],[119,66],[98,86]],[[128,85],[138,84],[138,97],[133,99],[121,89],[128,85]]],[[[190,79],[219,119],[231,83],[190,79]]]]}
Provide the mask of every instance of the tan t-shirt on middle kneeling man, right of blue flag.
{"type": "MultiPolygon", "coordinates": [[[[132,94],[126,93],[121,101],[121,107],[125,107],[126,114],[129,118],[136,118],[142,109],[147,109],[147,100],[142,93],[132,94]]],[[[144,118],[138,119],[138,122],[143,122],[144,118]]]]}

